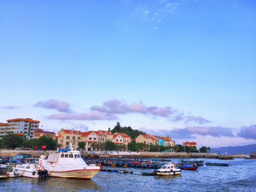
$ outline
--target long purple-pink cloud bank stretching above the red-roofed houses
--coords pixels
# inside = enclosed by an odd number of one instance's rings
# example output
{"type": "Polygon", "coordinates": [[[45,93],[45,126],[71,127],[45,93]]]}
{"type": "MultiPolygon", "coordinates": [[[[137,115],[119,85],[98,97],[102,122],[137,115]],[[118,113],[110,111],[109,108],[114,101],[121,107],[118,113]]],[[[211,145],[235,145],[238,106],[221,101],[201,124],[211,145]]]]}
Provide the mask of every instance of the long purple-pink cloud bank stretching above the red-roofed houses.
{"type": "Polygon", "coordinates": [[[58,110],[59,114],[50,114],[48,119],[60,120],[110,120],[118,119],[116,114],[140,113],[145,115],[153,115],[154,117],[167,118],[173,122],[183,121],[196,122],[197,124],[206,124],[211,121],[201,116],[195,117],[193,115],[184,115],[183,111],[178,112],[170,106],[166,107],[147,107],[143,102],[132,102],[127,105],[125,102],[119,101],[115,98],[103,102],[102,106],[92,105],[90,112],[73,112],[70,110],[70,104],[60,100],[47,100],[37,102],[33,107],[43,107],[46,109],[58,110]]]}

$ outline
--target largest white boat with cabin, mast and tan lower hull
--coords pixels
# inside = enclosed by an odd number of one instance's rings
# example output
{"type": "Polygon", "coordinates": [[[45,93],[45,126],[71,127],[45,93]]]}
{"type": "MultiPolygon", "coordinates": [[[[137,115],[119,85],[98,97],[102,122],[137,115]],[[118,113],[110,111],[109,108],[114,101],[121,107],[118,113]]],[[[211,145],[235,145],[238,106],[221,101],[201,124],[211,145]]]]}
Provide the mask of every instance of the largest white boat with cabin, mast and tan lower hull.
{"type": "Polygon", "coordinates": [[[73,151],[71,144],[70,149],[70,151],[52,152],[48,159],[41,155],[39,159],[41,169],[47,169],[53,177],[81,179],[91,179],[100,171],[100,166],[87,165],[80,151],[73,151]]]}

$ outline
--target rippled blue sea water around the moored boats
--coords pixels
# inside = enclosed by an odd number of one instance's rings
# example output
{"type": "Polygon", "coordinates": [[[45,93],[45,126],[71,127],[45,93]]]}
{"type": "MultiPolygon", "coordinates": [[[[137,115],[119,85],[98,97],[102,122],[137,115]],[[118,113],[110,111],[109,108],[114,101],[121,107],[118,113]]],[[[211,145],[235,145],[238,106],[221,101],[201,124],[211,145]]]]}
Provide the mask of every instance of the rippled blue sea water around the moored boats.
{"type": "MultiPolygon", "coordinates": [[[[192,159],[190,159],[192,160],[192,159]]],[[[200,166],[181,176],[142,176],[153,169],[125,169],[134,174],[100,171],[92,180],[67,178],[6,178],[1,191],[256,191],[256,159],[197,159],[230,166],[200,166]]],[[[178,159],[172,159],[178,162],[178,159]]],[[[111,169],[109,166],[105,169],[111,169]]],[[[113,168],[114,169],[114,168],[113,168]]]]}

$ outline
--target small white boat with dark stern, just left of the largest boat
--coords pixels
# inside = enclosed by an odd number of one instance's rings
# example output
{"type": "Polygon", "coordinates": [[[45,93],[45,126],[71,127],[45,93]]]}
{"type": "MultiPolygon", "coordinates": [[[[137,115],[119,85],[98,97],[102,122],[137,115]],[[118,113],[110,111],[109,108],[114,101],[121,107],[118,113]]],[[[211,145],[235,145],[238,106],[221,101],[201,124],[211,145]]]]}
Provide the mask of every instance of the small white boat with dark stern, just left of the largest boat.
{"type": "Polygon", "coordinates": [[[49,176],[48,171],[41,170],[38,164],[21,164],[16,167],[19,176],[25,176],[30,178],[39,178],[49,176]]]}

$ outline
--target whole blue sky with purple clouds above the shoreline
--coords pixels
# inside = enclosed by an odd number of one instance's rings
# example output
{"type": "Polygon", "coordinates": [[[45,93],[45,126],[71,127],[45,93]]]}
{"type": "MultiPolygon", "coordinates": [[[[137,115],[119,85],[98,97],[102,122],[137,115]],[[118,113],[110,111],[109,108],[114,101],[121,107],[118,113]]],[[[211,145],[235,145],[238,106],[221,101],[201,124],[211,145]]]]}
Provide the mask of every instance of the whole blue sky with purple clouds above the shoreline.
{"type": "Polygon", "coordinates": [[[0,1],[0,122],[256,142],[255,1],[0,1]]]}

